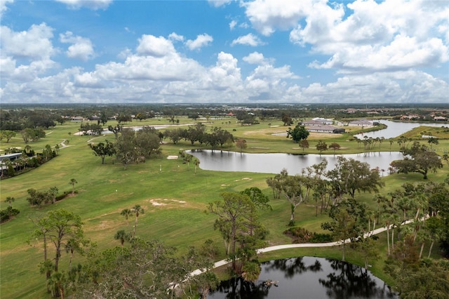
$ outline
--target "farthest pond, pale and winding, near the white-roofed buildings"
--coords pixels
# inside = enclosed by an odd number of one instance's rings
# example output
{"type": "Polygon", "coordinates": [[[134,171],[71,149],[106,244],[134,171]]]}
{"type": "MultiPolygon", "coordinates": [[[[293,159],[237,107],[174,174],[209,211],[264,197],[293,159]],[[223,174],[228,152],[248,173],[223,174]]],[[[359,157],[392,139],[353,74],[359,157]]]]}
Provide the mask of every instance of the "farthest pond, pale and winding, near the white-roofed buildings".
{"type": "Polygon", "coordinates": [[[381,119],[380,124],[387,125],[387,128],[384,128],[380,131],[374,131],[374,132],[368,132],[363,134],[354,135],[354,137],[358,139],[363,139],[365,136],[368,136],[368,138],[395,138],[403,133],[406,133],[410,130],[413,130],[413,128],[417,128],[418,126],[448,126],[449,124],[438,124],[438,123],[408,123],[408,122],[401,122],[401,121],[388,121],[386,119],[381,119]]]}

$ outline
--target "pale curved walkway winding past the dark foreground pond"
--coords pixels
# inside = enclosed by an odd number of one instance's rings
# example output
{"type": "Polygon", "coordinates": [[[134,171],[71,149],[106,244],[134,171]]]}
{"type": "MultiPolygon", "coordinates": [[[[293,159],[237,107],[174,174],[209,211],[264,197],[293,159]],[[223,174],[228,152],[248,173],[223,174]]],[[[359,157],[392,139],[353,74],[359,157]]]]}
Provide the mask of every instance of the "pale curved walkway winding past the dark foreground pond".
{"type": "MultiPolygon", "coordinates": [[[[401,225],[407,225],[413,221],[415,221],[415,220],[414,219],[406,220],[405,222],[402,222],[401,225]]],[[[393,225],[390,225],[390,229],[392,226],[393,225]]],[[[381,232],[385,232],[386,230],[387,230],[387,227],[377,228],[376,230],[373,230],[371,232],[367,232],[366,234],[364,234],[363,238],[373,236],[374,234],[380,234],[381,232]]],[[[338,246],[340,244],[343,244],[343,241],[344,241],[344,243],[349,243],[349,242],[351,242],[351,239],[328,242],[328,243],[302,243],[302,244],[285,244],[285,245],[269,246],[269,247],[257,249],[257,254],[265,253],[265,252],[269,252],[269,251],[281,250],[281,249],[290,249],[290,248],[333,247],[333,246],[338,246]]],[[[213,264],[213,268],[222,267],[229,263],[231,263],[229,260],[219,260],[218,262],[213,264]]],[[[190,273],[190,275],[192,275],[192,276],[199,275],[199,274],[203,273],[204,271],[205,270],[197,269],[194,272],[190,273]]]]}

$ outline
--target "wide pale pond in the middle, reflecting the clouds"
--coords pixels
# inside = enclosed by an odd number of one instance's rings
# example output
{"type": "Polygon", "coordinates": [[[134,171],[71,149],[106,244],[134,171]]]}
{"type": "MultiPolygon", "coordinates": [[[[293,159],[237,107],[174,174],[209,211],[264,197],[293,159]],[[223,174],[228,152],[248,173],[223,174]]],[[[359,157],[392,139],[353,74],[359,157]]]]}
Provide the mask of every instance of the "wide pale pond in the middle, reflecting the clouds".
{"type": "MultiPolygon", "coordinates": [[[[327,170],[330,171],[335,168],[339,156],[338,154],[241,154],[220,150],[195,150],[189,151],[189,154],[199,159],[201,169],[208,171],[281,173],[282,169],[286,168],[290,175],[300,174],[303,168],[319,164],[323,159],[328,160],[327,170]]],[[[391,161],[403,159],[401,152],[368,152],[341,156],[366,162],[370,168],[379,167],[381,176],[389,174],[388,168],[391,161]]]]}

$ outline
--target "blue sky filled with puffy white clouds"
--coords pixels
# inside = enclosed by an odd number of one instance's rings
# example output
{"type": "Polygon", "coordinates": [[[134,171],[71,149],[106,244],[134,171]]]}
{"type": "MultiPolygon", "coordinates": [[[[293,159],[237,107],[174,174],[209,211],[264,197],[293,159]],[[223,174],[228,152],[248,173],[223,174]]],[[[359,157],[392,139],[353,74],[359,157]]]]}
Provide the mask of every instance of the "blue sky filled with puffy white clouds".
{"type": "Polygon", "coordinates": [[[449,1],[0,0],[4,103],[449,103],[449,1]]]}

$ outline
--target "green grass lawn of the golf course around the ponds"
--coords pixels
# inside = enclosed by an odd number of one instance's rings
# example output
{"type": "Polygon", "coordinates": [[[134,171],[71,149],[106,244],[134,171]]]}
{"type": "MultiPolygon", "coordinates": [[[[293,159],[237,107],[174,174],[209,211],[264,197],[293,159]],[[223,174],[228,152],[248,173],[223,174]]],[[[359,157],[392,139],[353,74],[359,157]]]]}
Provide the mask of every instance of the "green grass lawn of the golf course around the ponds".
{"type": "MultiPolygon", "coordinates": [[[[189,124],[194,121],[181,118],[180,122],[189,124]]],[[[262,122],[256,126],[239,126],[235,119],[215,119],[213,122],[208,126],[221,126],[230,131],[234,137],[246,139],[248,143],[246,152],[302,152],[297,144],[286,137],[272,135],[286,131],[287,128],[281,126],[280,121],[271,121],[270,126],[268,122],[262,122]]],[[[128,125],[149,124],[165,125],[168,122],[165,119],[149,119],[128,125]]],[[[272,191],[265,182],[270,175],[214,172],[201,169],[194,174],[193,164],[183,164],[180,159],[166,159],[168,155],[176,155],[180,150],[192,148],[190,142],[180,142],[177,145],[169,142],[162,146],[162,157],[147,159],[142,164],[130,165],[126,171],[123,170],[121,164],[113,163],[113,157],[107,157],[103,165],[101,159],[92,154],[92,150],[88,147],[88,140],[93,139],[93,142],[100,142],[108,139],[112,141],[114,135],[95,138],[74,135],[78,128],[79,124],[76,123],[58,125],[47,131],[46,138],[30,142],[29,145],[36,152],[39,152],[47,144],[54,147],[63,140],[69,140],[69,146],[60,150],[58,157],[39,168],[0,182],[1,208],[6,208],[7,204],[4,203],[6,197],[15,197],[13,207],[20,210],[20,214],[15,219],[0,227],[1,298],[48,297],[45,291],[45,278],[39,274],[38,268],[39,263],[43,260],[42,244],[36,240],[30,240],[30,244],[27,244],[27,239],[34,230],[31,219],[39,218],[53,209],[66,208],[68,211],[81,215],[86,235],[92,241],[97,242],[100,249],[105,249],[119,245],[119,241],[114,240],[117,230],[128,230],[125,218],[119,215],[120,211],[123,208],[131,208],[135,204],[140,204],[145,209],[145,213],[140,215],[138,220],[136,234],[139,237],[159,239],[167,245],[176,246],[180,253],[187,251],[189,246],[199,246],[203,244],[204,240],[213,239],[221,250],[220,258],[225,258],[220,233],[213,230],[215,216],[204,213],[207,204],[220,199],[222,191],[239,192],[248,187],[259,187],[272,198],[272,191]],[[40,209],[32,208],[27,203],[29,188],[43,191],[55,186],[58,187],[60,193],[71,191],[72,185],[69,184],[69,180],[72,178],[78,182],[75,185],[78,192],[75,196],[67,197],[54,205],[48,204],[40,209]]],[[[339,143],[342,149],[337,151],[338,154],[363,151],[358,142],[349,141],[350,135],[335,134],[311,135],[310,148],[304,152],[316,153],[313,147],[319,139],[325,140],[328,145],[332,142],[339,143]]],[[[448,145],[448,140],[441,140],[438,148],[444,150],[449,147],[448,145]]],[[[2,143],[0,147],[1,149],[25,147],[25,143],[18,135],[8,144],[2,143]]],[[[387,141],[380,145],[380,149],[385,151],[389,150],[389,147],[390,144],[387,141]]],[[[397,142],[394,142],[392,147],[392,150],[398,150],[397,142]]],[[[236,150],[236,148],[227,150],[236,150]]],[[[331,151],[327,153],[330,154],[331,151]]],[[[438,173],[429,174],[429,180],[442,181],[447,173],[448,165],[445,164],[438,173]]],[[[382,194],[387,194],[387,192],[400,187],[403,182],[422,181],[422,175],[395,174],[382,180],[386,182],[382,194]]],[[[375,205],[373,194],[357,194],[356,196],[370,206],[375,205]]],[[[269,245],[290,243],[290,239],[283,234],[290,219],[288,201],[272,199],[270,204],[273,211],[264,211],[261,215],[262,221],[269,230],[267,239],[269,245]]],[[[320,224],[327,219],[327,216],[322,214],[315,217],[314,211],[312,204],[297,208],[297,225],[305,227],[307,230],[323,232],[320,224]]],[[[130,219],[129,225],[133,225],[133,221],[134,219],[130,219]]],[[[264,254],[262,260],[298,255],[340,258],[341,251],[339,248],[314,248],[272,252],[264,254]]],[[[67,263],[67,256],[64,254],[62,259],[66,260],[62,263],[63,269],[64,263],[67,263]]],[[[349,260],[362,265],[361,258],[356,255],[349,260]]],[[[383,260],[377,261],[373,264],[372,270],[378,277],[389,281],[382,274],[382,263],[383,260]]]]}

